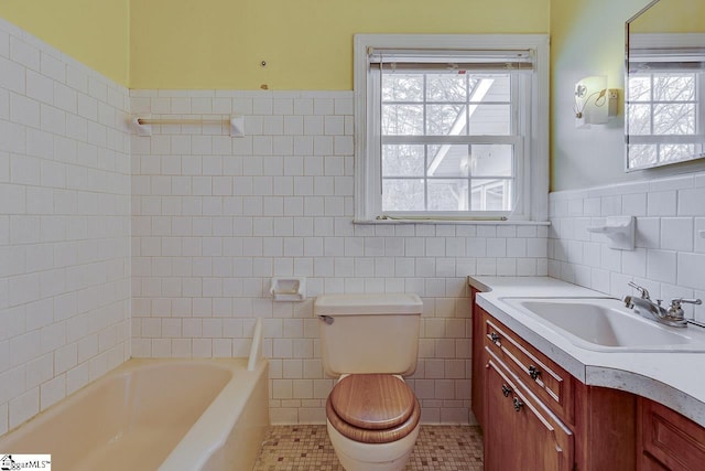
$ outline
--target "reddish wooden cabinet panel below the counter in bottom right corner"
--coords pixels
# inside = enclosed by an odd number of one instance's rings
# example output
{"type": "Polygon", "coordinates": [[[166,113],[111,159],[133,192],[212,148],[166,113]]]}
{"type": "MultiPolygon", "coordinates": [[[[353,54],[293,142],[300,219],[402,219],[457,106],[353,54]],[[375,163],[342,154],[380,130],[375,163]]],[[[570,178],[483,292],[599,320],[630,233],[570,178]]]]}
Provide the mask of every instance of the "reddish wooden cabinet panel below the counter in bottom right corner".
{"type": "MultiPolygon", "coordinates": [[[[705,429],[661,404],[640,399],[641,446],[672,471],[702,470],[705,429]]],[[[649,469],[643,467],[642,469],[649,469]]]]}

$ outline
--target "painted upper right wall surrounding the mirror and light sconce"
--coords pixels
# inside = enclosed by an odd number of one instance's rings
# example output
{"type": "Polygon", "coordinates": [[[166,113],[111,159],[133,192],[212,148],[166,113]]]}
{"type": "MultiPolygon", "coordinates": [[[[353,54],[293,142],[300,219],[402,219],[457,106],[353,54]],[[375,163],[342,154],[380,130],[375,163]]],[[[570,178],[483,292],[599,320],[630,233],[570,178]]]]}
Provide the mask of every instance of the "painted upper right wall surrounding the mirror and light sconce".
{"type": "MultiPolygon", "coordinates": [[[[625,172],[625,22],[650,0],[552,0],[551,2],[551,190],[649,180],[692,171],[702,162],[625,172]],[[619,116],[607,125],[576,128],[575,83],[607,75],[621,90],[619,116]]],[[[648,17],[671,31],[703,31],[705,1],[661,0],[648,17]],[[699,29],[698,29],[699,28],[699,29]]],[[[650,25],[650,31],[664,31],[650,25]]],[[[642,30],[643,31],[643,30],[642,30]]]]}

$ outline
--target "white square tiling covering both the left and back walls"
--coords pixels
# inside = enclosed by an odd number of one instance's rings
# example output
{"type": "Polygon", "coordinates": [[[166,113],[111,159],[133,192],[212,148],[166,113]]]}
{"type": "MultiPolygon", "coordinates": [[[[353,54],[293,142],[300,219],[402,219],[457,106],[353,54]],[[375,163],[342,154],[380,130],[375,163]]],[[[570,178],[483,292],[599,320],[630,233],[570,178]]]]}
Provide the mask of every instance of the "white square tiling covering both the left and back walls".
{"type": "MultiPolygon", "coordinates": [[[[322,422],[333,382],[323,377],[312,301],[273,303],[267,295],[272,276],[291,275],[308,279],[312,297],[421,295],[410,384],[423,420],[473,420],[465,277],[547,274],[547,229],[352,225],[352,152],[349,92],[128,97],[0,20],[0,433],[131,349],[247,355],[257,318],[265,321],[272,420],[322,422]],[[247,137],[173,125],[130,138],[128,110],[242,114],[247,137]]],[[[673,237],[659,225],[648,235],[673,237]]],[[[705,253],[697,240],[693,247],[705,253]]],[[[687,263],[679,266],[692,276],[687,263]]]]}

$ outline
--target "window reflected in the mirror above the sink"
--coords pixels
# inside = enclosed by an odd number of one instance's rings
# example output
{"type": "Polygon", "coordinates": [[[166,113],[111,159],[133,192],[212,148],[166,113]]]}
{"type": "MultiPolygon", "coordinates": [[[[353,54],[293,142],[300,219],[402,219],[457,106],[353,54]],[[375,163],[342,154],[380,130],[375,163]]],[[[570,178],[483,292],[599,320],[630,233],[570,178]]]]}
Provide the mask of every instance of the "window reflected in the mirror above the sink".
{"type": "Polygon", "coordinates": [[[629,170],[705,157],[703,35],[633,34],[627,81],[629,170]],[[688,43],[693,38],[695,44],[688,43]]]}

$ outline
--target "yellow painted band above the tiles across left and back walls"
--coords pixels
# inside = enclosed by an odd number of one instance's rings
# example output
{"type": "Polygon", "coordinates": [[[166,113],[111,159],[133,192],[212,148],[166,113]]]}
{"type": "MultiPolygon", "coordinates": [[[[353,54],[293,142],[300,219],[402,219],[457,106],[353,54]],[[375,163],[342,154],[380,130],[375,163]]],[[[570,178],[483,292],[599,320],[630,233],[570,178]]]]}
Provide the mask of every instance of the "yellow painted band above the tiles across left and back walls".
{"type": "Polygon", "coordinates": [[[340,90],[355,33],[547,33],[550,3],[2,0],[0,17],[131,88],[340,90]]]}

